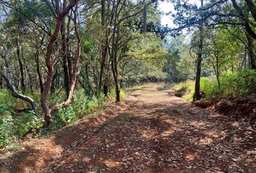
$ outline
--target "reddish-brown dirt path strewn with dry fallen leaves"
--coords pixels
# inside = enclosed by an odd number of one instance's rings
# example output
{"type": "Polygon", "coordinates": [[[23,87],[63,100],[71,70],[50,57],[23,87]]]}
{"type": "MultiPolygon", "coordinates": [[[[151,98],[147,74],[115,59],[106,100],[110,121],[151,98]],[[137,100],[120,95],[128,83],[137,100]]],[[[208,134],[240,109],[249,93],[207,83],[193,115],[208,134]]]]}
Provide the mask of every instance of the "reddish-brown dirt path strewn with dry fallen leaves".
{"type": "Polygon", "coordinates": [[[2,153],[12,156],[0,172],[253,173],[255,136],[251,123],[140,87],[119,105],[2,153]]]}

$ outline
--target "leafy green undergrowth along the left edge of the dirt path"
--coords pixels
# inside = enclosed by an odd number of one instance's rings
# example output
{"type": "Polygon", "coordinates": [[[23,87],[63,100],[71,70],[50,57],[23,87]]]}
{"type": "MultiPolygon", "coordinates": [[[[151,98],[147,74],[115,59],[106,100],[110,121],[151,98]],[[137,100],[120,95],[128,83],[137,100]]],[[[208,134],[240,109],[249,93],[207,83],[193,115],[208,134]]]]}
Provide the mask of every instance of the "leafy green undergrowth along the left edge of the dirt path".
{"type": "MultiPolygon", "coordinates": [[[[123,90],[121,90],[120,95],[121,98],[124,98],[123,90]]],[[[38,94],[33,95],[33,97],[39,99],[38,94]]],[[[63,102],[64,99],[64,94],[59,94],[48,104],[57,104],[63,102]]],[[[79,89],[74,93],[72,104],[53,113],[51,125],[43,129],[42,133],[74,123],[81,117],[100,108],[106,101],[107,98],[102,93],[98,97],[90,97],[85,94],[83,89],[79,89]]],[[[11,97],[6,89],[0,89],[0,148],[12,145],[15,141],[23,138],[28,130],[39,128],[43,124],[43,118],[36,117],[33,112],[15,112],[14,107],[17,106],[27,107],[29,105],[11,97]]],[[[40,111],[38,110],[38,112],[40,111]]]]}

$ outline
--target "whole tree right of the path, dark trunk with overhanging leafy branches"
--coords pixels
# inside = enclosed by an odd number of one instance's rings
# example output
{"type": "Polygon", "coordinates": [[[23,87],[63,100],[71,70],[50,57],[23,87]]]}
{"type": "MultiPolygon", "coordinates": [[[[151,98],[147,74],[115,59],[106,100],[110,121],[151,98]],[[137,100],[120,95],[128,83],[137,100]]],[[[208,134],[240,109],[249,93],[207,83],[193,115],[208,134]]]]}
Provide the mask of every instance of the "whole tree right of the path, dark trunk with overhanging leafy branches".
{"type": "MultiPolygon", "coordinates": [[[[217,51],[209,50],[210,56],[215,54],[213,59],[207,58],[209,56],[204,52],[205,50],[205,35],[207,32],[215,32],[214,30],[229,30],[234,37],[234,43],[236,40],[240,40],[244,45],[244,48],[247,50],[247,57],[249,58],[250,68],[255,70],[255,4],[249,0],[239,1],[236,0],[217,0],[209,1],[205,4],[201,1],[201,6],[197,7],[193,4],[188,4],[187,1],[174,0],[174,6],[176,13],[173,14],[174,22],[179,27],[174,29],[169,29],[169,32],[179,32],[184,28],[189,28],[190,30],[195,30],[198,28],[198,41],[193,41],[197,44],[197,75],[195,80],[195,95],[194,99],[200,99],[200,75],[201,75],[201,62],[206,59],[213,65],[215,74],[217,78],[220,75],[220,66],[219,66],[219,53],[222,51],[218,43],[214,43],[215,39],[212,37],[211,43],[218,46],[217,51]],[[202,27],[203,26],[203,27],[202,27]],[[242,37],[240,36],[242,35],[242,37]],[[244,37],[246,36],[246,37],[244,37]],[[245,38],[245,39],[244,39],[245,38]],[[205,54],[205,55],[204,55],[205,54]]],[[[209,35],[208,35],[209,36],[209,35]]],[[[193,39],[195,39],[194,37],[193,39]]],[[[207,45],[207,44],[206,44],[207,45]]],[[[195,50],[195,44],[192,45],[195,50]]],[[[210,46],[213,49],[213,46],[210,46]]],[[[236,55],[237,56],[237,55],[236,55]]],[[[233,57],[234,58],[234,57],[233,57]]],[[[233,59],[233,61],[235,61],[233,59]]]]}

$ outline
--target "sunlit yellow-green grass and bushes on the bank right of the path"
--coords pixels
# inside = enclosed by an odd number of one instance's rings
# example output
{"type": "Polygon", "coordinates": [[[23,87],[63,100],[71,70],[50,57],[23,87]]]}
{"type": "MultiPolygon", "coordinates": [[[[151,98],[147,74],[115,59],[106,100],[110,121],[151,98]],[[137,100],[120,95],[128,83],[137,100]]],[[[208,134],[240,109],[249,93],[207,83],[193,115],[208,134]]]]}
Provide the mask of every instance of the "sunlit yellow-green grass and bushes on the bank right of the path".
{"type": "MultiPolygon", "coordinates": [[[[184,92],[182,98],[192,101],[195,93],[195,81],[184,81],[176,84],[173,89],[176,92],[184,92]]],[[[200,90],[204,93],[202,100],[236,97],[256,92],[256,72],[253,70],[227,71],[220,76],[220,86],[215,77],[201,77],[200,90]]]]}

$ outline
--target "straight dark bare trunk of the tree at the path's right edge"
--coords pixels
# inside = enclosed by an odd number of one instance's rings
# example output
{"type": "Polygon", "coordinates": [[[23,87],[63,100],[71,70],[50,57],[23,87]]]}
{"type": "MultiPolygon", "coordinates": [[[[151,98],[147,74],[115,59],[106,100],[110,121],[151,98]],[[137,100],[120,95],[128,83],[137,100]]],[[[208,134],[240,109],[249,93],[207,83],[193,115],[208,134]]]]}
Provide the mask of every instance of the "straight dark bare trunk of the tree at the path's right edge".
{"type": "MultiPolygon", "coordinates": [[[[201,6],[203,6],[203,0],[201,0],[201,6]]],[[[203,44],[203,22],[200,22],[199,32],[200,32],[200,42],[199,42],[199,50],[197,55],[197,74],[195,77],[195,94],[193,100],[200,99],[200,77],[201,77],[201,63],[202,63],[202,44],[203,44]]]]}

